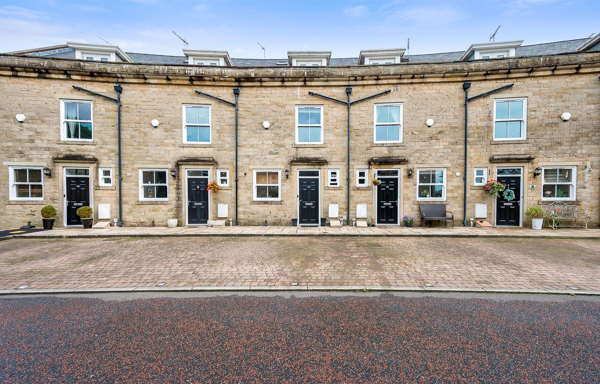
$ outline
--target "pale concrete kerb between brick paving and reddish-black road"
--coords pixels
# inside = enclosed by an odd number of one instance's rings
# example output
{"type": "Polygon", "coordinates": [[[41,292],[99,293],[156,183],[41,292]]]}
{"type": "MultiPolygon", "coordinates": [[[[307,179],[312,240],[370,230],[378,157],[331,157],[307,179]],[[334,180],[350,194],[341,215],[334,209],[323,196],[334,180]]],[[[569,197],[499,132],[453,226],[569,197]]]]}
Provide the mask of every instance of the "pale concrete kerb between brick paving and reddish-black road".
{"type": "Polygon", "coordinates": [[[118,292],[257,292],[257,291],[317,291],[317,292],[471,292],[471,293],[536,293],[545,295],[600,296],[600,290],[564,289],[503,289],[465,287],[392,287],[392,286],[194,286],[194,287],[108,287],[67,289],[2,289],[4,295],[56,295],[59,293],[118,292]]]}

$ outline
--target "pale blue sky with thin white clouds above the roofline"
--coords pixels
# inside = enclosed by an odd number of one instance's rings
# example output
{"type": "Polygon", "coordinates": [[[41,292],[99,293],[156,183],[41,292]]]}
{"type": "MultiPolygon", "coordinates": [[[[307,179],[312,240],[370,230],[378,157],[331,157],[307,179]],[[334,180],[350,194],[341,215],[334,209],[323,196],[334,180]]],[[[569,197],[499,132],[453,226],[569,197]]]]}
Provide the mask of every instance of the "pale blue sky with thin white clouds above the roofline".
{"type": "Polygon", "coordinates": [[[524,44],[600,32],[600,1],[7,1],[0,52],[103,38],[125,52],[182,55],[228,50],[233,58],[286,58],[288,50],[404,48],[410,54],[465,50],[488,41],[524,44]]]}

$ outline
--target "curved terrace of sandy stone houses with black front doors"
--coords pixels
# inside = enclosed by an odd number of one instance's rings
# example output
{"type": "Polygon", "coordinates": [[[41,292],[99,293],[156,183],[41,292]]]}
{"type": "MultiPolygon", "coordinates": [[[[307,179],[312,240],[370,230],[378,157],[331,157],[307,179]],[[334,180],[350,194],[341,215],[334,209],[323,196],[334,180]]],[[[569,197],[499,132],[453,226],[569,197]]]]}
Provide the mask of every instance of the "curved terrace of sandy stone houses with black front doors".
{"type": "Polygon", "coordinates": [[[0,227],[40,226],[46,204],[58,226],[79,226],[84,205],[96,221],[164,226],[402,225],[439,203],[457,225],[526,226],[527,208],[554,201],[597,224],[600,35],[522,43],[344,59],[71,42],[1,54],[0,227]],[[488,197],[490,179],[515,198],[488,197]]]}

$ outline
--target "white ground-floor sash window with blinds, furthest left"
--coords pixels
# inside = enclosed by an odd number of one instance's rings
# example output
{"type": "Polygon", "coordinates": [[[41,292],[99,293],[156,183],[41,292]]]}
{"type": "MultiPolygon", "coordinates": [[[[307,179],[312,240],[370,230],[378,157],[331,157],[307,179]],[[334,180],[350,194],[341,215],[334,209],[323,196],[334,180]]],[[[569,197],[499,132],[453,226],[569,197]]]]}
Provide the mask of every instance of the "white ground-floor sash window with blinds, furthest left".
{"type": "Polygon", "coordinates": [[[44,200],[41,167],[8,167],[9,200],[44,200]]]}

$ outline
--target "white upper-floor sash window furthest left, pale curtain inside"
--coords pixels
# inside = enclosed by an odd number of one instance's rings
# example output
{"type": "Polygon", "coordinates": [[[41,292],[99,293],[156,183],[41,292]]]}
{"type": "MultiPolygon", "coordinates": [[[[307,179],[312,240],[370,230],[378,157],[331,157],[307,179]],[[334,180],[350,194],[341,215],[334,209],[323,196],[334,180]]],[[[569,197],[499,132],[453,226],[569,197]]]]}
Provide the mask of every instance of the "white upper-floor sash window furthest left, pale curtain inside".
{"type": "Polygon", "coordinates": [[[92,102],[61,100],[61,139],[91,142],[92,102]]]}

